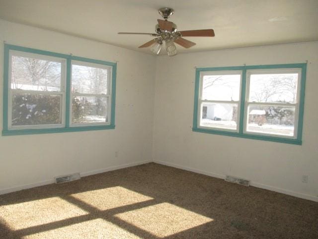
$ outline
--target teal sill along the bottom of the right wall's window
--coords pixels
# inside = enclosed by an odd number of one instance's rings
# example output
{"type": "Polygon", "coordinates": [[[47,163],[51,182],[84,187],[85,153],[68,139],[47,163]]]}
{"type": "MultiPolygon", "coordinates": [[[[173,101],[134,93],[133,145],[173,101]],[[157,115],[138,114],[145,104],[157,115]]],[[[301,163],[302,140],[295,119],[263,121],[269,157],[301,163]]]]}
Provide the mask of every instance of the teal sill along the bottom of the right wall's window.
{"type": "Polygon", "coordinates": [[[302,140],[293,139],[293,138],[281,138],[281,137],[275,137],[275,136],[246,134],[246,133],[222,131],[222,130],[216,130],[216,129],[197,128],[197,127],[193,127],[192,131],[201,132],[201,133],[225,135],[225,136],[234,136],[234,137],[239,137],[239,138],[249,138],[249,139],[258,139],[258,140],[279,142],[279,143],[289,143],[289,144],[302,145],[302,140]]]}

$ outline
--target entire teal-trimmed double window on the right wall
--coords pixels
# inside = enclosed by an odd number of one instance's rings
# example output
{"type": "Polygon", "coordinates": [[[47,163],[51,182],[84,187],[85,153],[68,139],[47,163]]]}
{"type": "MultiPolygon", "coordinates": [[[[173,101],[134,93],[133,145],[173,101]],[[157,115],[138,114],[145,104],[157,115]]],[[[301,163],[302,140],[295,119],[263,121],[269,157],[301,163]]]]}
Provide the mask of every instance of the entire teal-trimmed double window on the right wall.
{"type": "Polygon", "coordinates": [[[193,131],[301,144],[306,64],[197,68],[193,131]]]}

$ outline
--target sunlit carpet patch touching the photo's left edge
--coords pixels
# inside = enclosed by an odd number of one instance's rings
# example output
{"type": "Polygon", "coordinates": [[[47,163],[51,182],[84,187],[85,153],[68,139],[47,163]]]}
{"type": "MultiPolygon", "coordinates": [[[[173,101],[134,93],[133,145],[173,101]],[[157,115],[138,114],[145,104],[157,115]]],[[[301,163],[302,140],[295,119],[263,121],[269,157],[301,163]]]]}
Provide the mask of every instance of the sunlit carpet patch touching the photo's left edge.
{"type": "Polygon", "coordinates": [[[0,206],[0,216],[11,230],[26,229],[86,214],[84,210],[59,197],[0,206]]]}

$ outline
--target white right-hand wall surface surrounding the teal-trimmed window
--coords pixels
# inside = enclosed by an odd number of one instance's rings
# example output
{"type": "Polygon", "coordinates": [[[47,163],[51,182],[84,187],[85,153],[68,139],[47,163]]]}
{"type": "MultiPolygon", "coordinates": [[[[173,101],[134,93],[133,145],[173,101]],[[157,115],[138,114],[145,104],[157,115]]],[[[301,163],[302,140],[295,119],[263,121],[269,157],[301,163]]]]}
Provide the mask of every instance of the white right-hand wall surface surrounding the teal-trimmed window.
{"type": "Polygon", "coordinates": [[[318,201],[318,42],[179,54],[157,59],[155,161],[318,201]],[[192,131],[195,67],[308,60],[303,145],[192,131]],[[164,70],[163,70],[164,69],[164,70]],[[309,175],[302,183],[302,175],[309,175]]]}

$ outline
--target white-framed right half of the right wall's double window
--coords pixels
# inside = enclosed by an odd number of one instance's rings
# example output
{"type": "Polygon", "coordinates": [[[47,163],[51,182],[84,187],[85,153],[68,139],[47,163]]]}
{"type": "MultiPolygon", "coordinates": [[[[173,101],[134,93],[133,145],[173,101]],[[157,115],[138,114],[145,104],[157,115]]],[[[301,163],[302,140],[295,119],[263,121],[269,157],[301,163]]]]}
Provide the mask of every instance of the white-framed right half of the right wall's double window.
{"type": "Polygon", "coordinates": [[[300,69],[248,70],[244,131],[297,137],[300,69]]]}

